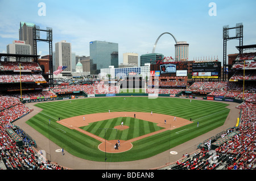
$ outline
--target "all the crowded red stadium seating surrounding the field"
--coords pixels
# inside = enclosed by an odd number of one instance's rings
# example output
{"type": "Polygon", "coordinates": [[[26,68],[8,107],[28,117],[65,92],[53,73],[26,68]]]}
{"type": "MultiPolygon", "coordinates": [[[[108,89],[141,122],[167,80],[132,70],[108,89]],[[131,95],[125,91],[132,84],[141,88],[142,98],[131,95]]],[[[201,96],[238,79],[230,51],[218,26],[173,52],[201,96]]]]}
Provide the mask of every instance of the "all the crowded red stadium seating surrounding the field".
{"type": "MultiPolygon", "coordinates": [[[[255,59],[253,55],[240,57],[240,60],[245,58],[255,59]]],[[[255,68],[255,62],[247,64],[248,68],[255,68]]],[[[240,65],[238,65],[240,66],[240,65]]],[[[40,70],[37,64],[28,62],[22,64],[22,70],[40,70]]],[[[13,62],[1,62],[0,71],[19,70],[19,65],[13,62]]],[[[233,75],[234,79],[241,79],[241,73],[233,75]]],[[[255,80],[256,74],[247,74],[246,80],[255,80]]],[[[0,83],[15,83],[20,81],[19,74],[1,74],[0,83]]],[[[45,81],[41,74],[23,74],[22,82],[42,82],[45,81]]],[[[154,85],[150,80],[148,85],[154,85]]],[[[185,86],[184,81],[160,81],[160,86],[185,86]]],[[[26,87],[28,85],[24,85],[26,87]]],[[[40,85],[38,85],[40,87],[40,85]]],[[[9,89],[17,89],[18,86],[10,84],[9,89]]],[[[28,86],[29,87],[29,86],[28,86]]],[[[173,87],[172,87],[173,88],[173,87]]],[[[42,87],[40,87],[42,89],[42,87]]],[[[96,81],[92,85],[57,85],[48,91],[26,91],[23,92],[22,98],[33,98],[40,96],[55,96],[59,92],[84,91],[86,94],[109,94],[119,93],[119,86],[108,86],[103,82],[96,81]],[[53,93],[54,92],[54,93],[53,93]]],[[[214,149],[216,155],[205,148],[201,147],[200,151],[191,154],[190,157],[184,156],[179,159],[171,169],[173,170],[237,170],[237,169],[255,169],[255,120],[256,120],[256,87],[249,85],[245,87],[236,82],[195,82],[187,89],[158,89],[159,94],[177,95],[180,91],[195,91],[207,92],[210,96],[224,96],[225,98],[243,99],[245,102],[237,108],[241,109],[240,131],[239,134],[230,138],[228,142],[214,149]]],[[[155,93],[155,89],[146,89],[146,93],[155,93]]],[[[6,169],[10,170],[27,170],[27,169],[42,169],[42,170],[60,170],[63,167],[48,163],[48,161],[38,162],[40,154],[34,150],[34,140],[28,136],[22,129],[10,124],[11,121],[19,119],[19,117],[30,113],[32,110],[20,102],[20,94],[10,93],[8,95],[0,95],[0,153],[1,159],[5,162],[6,169]],[[23,140],[23,148],[15,145],[15,142],[6,133],[6,129],[13,129],[23,140]],[[26,154],[24,154],[26,153],[26,154]]],[[[232,133],[234,128],[228,129],[221,137],[232,133]]],[[[210,145],[210,142],[207,143],[210,145]]]]}

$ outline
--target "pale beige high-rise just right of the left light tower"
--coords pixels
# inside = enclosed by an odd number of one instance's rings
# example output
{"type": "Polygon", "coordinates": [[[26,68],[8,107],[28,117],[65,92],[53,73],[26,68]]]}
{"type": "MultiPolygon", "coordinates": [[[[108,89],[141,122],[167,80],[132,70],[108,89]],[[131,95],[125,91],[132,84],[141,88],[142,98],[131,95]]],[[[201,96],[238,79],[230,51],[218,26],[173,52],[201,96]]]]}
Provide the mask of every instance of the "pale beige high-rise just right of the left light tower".
{"type": "Polygon", "coordinates": [[[62,40],[55,44],[55,64],[56,69],[59,66],[68,66],[63,70],[62,74],[71,74],[72,73],[72,52],[71,52],[71,43],[62,40]]]}

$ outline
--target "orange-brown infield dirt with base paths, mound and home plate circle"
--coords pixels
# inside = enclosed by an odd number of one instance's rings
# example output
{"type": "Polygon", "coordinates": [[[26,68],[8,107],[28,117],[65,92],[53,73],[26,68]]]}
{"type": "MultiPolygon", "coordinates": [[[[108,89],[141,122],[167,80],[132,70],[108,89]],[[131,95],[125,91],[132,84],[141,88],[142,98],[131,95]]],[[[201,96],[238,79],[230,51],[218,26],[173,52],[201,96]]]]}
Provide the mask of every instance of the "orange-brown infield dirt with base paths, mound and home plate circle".
{"type": "MultiPolygon", "coordinates": [[[[76,129],[77,131],[80,131],[84,134],[87,134],[88,136],[91,136],[93,138],[96,138],[97,140],[101,141],[102,143],[98,145],[98,149],[101,151],[106,151],[108,153],[121,153],[123,151],[130,150],[133,147],[133,144],[131,142],[140,140],[142,138],[152,136],[154,134],[158,134],[160,132],[164,132],[167,130],[175,129],[182,127],[187,124],[191,124],[193,122],[182,119],[180,117],[176,117],[176,120],[174,120],[174,116],[170,115],[163,115],[159,113],[148,113],[148,112],[106,112],[106,113],[94,113],[89,115],[81,115],[81,116],[75,116],[75,117],[69,117],[67,119],[63,119],[60,121],[57,121],[57,123],[64,125],[65,127],[68,127],[70,129],[76,129]],[[121,146],[118,149],[114,149],[114,145],[118,142],[118,140],[106,140],[104,138],[98,137],[92,133],[86,132],[80,127],[84,127],[86,125],[89,125],[89,123],[93,123],[96,121],[101,120],[107,120],[112,119],[115,117],[134,117],[134,114],[137,119],[142,119],[145,121],[151,121],[153,123],[157,123],[159,127],[163,127],[164,129],[161,129],[156,132],[152,132],[149,134],[144,134],[143,136],[133,138],[131,140],[119,140],[121,142],[121,146]],[[85,117],[85,120],[84,120],[85,117]],[[166,120],[166,123],[164,122],[166,120]]],[[[119,125],[114,128],[117,129],[129,129],[127,125],[119,125]]]]}

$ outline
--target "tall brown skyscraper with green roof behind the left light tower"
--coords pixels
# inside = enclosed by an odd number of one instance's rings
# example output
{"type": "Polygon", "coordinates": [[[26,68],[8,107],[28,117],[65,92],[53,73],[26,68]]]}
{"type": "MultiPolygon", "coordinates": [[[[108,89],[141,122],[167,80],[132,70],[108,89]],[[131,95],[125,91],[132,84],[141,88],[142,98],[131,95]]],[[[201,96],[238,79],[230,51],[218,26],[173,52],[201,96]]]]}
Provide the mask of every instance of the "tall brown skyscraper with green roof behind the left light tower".
{"type": "Polygon", "coordinates": [[[31,53],[32,49],[34,48],[34,23],[27,23],[27,22],[20,22],[19,23],[19,40],[25,41],[27,45],[31,46],[31,53]]]}

